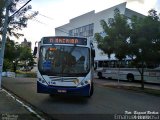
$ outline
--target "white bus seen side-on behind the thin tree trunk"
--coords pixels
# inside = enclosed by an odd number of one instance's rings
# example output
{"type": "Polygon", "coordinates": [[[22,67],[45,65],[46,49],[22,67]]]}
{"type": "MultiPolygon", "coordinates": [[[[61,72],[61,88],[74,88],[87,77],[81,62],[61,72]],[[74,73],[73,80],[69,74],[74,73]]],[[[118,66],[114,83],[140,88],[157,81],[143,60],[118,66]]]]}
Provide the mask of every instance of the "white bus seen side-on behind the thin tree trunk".
{"type": "MultiPolygon", "coordinates": [[[[141,75],[137,68],[132,65],[133,60],[125,59],[118,61],[112,60],[95,60],[95,77],[108,78],[127,81],[139,81],[141,75]]],[[[144,68],[144,82],[160,84],[160,66],[144,68]]]]}

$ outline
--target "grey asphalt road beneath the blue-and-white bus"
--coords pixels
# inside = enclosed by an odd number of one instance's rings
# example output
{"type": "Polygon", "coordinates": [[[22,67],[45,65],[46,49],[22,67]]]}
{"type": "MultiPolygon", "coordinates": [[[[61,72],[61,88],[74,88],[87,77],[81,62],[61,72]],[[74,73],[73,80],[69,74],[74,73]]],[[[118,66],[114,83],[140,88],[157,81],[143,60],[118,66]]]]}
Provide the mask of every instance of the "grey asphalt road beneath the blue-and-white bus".
{"type": "Polygon", "coordinates": [[[2,85],[49,115],[53,119],[113,119],[115,114],[125,114],[126,111],[160,113],[160,97],[145,93],[107,88],[95,84],[94,95],[87,98],[57,96],[51,98],[47,94],[36,92],[36,79],[33,78],[3,78],[2,85]]]}

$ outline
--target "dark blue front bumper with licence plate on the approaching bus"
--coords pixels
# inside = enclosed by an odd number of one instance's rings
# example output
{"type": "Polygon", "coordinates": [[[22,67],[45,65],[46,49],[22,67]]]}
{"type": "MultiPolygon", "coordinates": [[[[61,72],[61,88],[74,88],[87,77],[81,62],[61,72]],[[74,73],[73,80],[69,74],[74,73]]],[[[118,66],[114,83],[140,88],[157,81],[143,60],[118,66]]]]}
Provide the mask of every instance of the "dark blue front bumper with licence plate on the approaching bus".
{"type": "Polygon", "coordinates": [[[89,96],[91,85],[83,87],[46,86],[37,81],[37,92],[55,95],[89,96]]]}

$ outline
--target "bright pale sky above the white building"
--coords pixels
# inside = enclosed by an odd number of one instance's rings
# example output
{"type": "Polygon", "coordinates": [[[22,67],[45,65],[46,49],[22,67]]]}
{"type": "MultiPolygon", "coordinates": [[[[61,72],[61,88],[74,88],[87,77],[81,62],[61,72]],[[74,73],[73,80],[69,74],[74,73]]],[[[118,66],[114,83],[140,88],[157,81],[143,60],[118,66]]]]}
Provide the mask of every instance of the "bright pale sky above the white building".
{"type": "Polygon", "coordinates": [[[32,6],[30,13],[38,11],[39,14],[28,21],[27,28],[22,31],[24,37],[17,41],[22,42],[26,38],[32,42],[33,48],[36,41],[40,41],[43,36],[54,36],[55,27],[67,24],[70,19],[92,10],[99,12],[123,2],[127,2],[127,8],[145,15],[152,8],[160,12],[160,0],[32,0],[29,3],[32,6]]]}

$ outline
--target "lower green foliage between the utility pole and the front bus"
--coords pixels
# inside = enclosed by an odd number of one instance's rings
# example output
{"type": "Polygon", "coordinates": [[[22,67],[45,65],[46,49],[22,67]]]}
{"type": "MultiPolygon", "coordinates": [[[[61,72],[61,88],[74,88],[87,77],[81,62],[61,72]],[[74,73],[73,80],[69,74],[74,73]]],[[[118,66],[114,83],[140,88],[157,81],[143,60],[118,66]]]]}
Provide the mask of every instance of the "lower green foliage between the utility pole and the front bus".
{"type": "Polygon", "coordinates": [[[32,67],[35,63],[30,48],[15,43],[9,38],[6,42],[4,59],[3,70],[5,71],[7,69],[16,71],[18,66],[32,67]]]}

